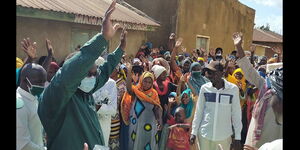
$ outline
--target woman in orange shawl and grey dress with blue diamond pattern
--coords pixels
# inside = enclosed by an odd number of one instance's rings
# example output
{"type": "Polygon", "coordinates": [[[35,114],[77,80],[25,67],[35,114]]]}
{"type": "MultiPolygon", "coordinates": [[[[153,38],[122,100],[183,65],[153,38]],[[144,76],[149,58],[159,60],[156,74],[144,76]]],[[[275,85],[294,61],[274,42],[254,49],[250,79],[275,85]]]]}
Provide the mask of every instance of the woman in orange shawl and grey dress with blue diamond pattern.
{"type": "Polygon", "coordinates": [[[121,102],[121,115],[129,125],[128,149],[158,149],[158,130],[162,125],[162,107],[153,89],[154,75],[144,72],[138,85],[132,85],[128,71],[127,92],[121,102]]]}

